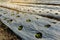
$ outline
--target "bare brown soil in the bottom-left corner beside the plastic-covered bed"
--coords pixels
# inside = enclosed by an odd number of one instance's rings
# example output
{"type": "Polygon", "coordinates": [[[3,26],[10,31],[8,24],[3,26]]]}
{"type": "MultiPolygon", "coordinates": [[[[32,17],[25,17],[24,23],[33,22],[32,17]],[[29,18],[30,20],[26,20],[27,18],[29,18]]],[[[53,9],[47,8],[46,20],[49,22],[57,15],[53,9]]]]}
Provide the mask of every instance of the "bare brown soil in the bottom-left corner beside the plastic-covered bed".
{"type": "Polygon", "coordinates": [[[21,38],[0,22],[0,40],[21,40],[21,38]]]}

